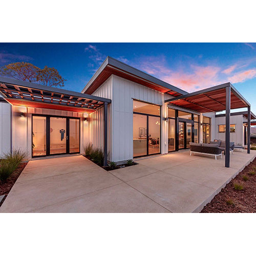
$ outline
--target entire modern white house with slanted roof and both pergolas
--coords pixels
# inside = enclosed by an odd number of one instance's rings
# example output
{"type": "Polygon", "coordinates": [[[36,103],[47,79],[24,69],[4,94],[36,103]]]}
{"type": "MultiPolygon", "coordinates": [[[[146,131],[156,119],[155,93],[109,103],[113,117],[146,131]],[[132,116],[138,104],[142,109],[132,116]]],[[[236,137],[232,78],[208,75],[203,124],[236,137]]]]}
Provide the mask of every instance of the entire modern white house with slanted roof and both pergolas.
{"type": "Polygon", "coordinates": [[[5,77],[0,93],[0,155],[11,148],[30,158],[83,153],[91,142],[106,164],[183,150],[190,141],[221,139],[229,148],[229,141],[250,143],[256,119],[229,82],[187,93],[111,57],[81,93],[5,77]],[[238,108],[247,111],[230,114],[238,108]]]}

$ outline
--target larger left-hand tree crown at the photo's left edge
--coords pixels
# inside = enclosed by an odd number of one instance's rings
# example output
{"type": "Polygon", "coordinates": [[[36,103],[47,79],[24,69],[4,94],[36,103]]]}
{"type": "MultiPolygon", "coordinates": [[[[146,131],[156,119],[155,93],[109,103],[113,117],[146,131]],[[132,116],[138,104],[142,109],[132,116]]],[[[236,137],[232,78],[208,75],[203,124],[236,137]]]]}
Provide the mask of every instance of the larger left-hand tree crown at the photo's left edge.
{"type": "Polygon", "coordinates": [[[10,63],[0,69],[2,76],[9,76],[18,80],[36,82],[40,69],[28,62],[10,63]]]}

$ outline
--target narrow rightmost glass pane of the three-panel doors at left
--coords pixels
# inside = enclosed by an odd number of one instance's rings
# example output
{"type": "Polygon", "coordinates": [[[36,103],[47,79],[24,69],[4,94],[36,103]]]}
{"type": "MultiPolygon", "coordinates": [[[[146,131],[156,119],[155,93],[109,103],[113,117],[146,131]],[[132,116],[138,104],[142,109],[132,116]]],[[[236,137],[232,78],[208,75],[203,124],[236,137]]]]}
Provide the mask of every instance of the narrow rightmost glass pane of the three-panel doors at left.
{"type": "Polygon", "coordinates": [[[79,119],[70,119],[69,121],[69,152],[79,152],[79,119]]]}

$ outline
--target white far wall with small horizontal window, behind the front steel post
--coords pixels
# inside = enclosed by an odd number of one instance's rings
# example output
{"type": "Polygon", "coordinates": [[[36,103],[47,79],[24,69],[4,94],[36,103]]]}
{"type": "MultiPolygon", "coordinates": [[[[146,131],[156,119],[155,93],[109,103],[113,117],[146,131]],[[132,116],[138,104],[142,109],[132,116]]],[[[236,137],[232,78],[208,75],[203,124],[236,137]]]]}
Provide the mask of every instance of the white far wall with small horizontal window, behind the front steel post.
{"type": "MultiPolygon", "coordinates": [[[[216,117],[216,139],[225,140],[225,133],[219,133],[219,124],[225,124],[226,117],[216,117]]],[[[230,142],[244,145],[243,116],[230,116],[230,124],[236,124],[236,132],[230,133],[230,142]]]]}

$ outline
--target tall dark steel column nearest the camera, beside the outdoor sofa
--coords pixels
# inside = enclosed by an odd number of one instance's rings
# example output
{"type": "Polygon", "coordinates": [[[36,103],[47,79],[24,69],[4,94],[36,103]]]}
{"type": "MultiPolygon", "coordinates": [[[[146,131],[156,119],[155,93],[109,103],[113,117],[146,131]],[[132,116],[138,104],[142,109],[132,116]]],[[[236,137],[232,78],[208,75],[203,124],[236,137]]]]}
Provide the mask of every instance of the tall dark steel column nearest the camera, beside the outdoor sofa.
{"type": "Polygon", "coordinates": [[[225,132],[225,167],[229,167],[230,162],[230,86],[226,87],[226,132],[225,132]]]}

